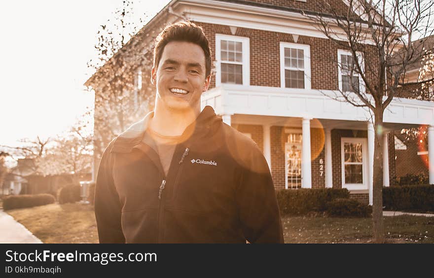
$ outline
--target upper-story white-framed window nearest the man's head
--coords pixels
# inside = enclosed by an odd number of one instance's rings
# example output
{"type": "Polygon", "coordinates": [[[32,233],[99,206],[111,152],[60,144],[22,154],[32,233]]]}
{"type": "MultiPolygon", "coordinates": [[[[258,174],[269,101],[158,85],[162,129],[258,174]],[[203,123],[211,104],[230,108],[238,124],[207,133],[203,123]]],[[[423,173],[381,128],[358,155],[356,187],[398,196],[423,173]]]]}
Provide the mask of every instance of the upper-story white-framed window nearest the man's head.
{"type": "Polygon", "coordinates": [[[216,86],[221,83],[250,85],[248,37],[216,35],[216,86]]]}

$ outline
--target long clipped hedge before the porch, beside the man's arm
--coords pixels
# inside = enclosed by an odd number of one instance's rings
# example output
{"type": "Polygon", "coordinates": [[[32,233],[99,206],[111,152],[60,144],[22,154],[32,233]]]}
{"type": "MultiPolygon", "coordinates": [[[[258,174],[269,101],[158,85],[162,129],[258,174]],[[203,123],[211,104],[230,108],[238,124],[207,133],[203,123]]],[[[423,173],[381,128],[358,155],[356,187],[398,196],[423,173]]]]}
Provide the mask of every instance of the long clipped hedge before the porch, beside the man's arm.
{"type": "Polygon", "coordinates": [[[328,202],[350,198],[350,192],[346,188],[283,189],[277,192],[276,197],[282,214],[303,215],[325,211],[328,202]]]}

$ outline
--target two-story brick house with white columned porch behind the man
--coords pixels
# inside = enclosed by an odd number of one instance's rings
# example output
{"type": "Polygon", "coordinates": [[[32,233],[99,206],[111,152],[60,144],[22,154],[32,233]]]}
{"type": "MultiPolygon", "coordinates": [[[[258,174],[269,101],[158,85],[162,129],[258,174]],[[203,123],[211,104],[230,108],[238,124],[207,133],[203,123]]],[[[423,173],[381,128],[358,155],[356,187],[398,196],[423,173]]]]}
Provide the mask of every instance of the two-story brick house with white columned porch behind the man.
{"type": "MultiPolygon", "coordinates": [[[[345,11],[345,1],[330,2],[345,11]]],[[[180,21],[177,15],[202,26],[215,64],[202,107],[213,106],[226,124],[257,143],[276,189],[343,187],[372,204],[369,112],[325,96],[350,88],[348,74],[337,67],[350,53],[338,49],[300,12],[320,11],[321,5],[319,0],[173,0],[126,47],[137,41],[152,44],[154,37],[146,34],[180,21]]],[[[363,53],[365,63],[374,64],[372,53],[363,53]]],[[[86,84],[93,81],[91,77],[86,84]]],[[[433,124],[431,102],[402,98],[389,105],[384,113],[384,186],[396,176],[395,137],[388,132],[429,125],[428,136],[434,139],[433,124]]]]}

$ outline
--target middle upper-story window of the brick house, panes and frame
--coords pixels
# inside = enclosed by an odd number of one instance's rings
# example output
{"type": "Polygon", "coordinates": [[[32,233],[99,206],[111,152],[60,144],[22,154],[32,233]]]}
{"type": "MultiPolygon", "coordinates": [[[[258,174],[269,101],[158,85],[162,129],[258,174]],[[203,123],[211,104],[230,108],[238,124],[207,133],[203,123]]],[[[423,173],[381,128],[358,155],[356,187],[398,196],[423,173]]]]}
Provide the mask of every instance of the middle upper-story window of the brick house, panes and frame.
{"type": "Polygon", "coordinates": [[[280,43],[280,80],[282,88],[311,88],[309,45],[280,43]]]}

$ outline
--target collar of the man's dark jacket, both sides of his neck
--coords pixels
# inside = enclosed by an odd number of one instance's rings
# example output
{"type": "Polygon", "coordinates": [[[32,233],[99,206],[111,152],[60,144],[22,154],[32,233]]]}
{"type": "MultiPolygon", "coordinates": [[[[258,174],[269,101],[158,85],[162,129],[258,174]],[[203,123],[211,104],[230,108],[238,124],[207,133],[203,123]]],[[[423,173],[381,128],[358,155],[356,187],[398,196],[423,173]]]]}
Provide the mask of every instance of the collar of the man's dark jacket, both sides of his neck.
{"type": "MultiPolygon", "coordinates": [[[[131,125],[128,129],[122,132],[116,139],[114,139],[113,146],[110,152],[128,153],[140,144],[145,136],[145,131],[148,127],[149,120],[154,116],[154,111],[146,114],[146,116],[140,121],[131,125]]],[[[216,121],[221,122],[221,118],[218,118],[214,112],[213,107],[205,106],[195,122],[190,124],[185,130],[194,128],[194,132],[206,129],[210,130],[210,126],[216,121]]],[[[185,133],[185,131],[184,131],[185,133]]],[[[191,133],[190,133],[191,134],[191,133]]]]}

